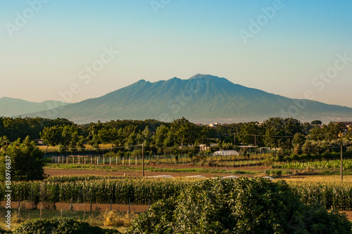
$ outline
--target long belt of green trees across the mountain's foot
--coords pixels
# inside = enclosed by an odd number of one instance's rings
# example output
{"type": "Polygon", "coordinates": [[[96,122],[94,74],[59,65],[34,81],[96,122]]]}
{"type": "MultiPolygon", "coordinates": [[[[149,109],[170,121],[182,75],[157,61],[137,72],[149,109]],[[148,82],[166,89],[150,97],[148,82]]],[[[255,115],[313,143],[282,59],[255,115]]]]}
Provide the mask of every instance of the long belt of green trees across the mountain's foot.
{"type": "Polygon", "coordinates": [[[199,126],[184,117],[172,122],[125,119],[89,124],[75,124],[68,119],[0,117],[0,144],[29,136],[32,140],[42,138],[46,145],[59,145],[69,150],[82,150],[85,144],[93,148],[111,144],[114,148],[142,143],[156,148],[210,143],[217,143],[220,148],[234,148],[236,145],[295,148],[297,145],[303,147],[307,141],[336,141],[344,132],[345,138],[352,137],[352,131],[343,123],[300,122],[281,117],[215,127],[199,126]]]}

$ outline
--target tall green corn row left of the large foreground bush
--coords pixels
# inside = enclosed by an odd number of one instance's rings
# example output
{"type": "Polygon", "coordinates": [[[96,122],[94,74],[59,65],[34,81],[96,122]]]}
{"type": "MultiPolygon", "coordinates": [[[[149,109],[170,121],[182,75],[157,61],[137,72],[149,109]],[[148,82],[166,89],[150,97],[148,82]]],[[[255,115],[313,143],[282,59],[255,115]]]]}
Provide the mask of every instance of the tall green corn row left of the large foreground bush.
{"type": "MultiPolygon", "coordinates": [[[[157,179],[100,179],[70,182],[13,182],[11,200],[30,202],[73,202],[109,204],[149,204],[175,195],[187,186],[182,181],[161,182],[157,179]]],[[[4,200],[5,186],[1,185],[0,196],[4,200]]]]}

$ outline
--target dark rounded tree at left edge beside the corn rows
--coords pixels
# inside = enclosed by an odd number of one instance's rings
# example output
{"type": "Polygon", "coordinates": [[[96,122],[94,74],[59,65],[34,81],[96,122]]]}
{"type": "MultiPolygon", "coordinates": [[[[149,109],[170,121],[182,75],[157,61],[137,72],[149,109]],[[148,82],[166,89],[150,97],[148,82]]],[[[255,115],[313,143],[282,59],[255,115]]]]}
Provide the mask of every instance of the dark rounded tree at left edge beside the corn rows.
{"type": "Polygon", "coordinates": [[[34,141],[30,141],[27,136],[23,143],[20,138],[8,146],[7,151],[1,150],[1,180],[4,180],[6,158],[11,157],[11,180],[13,181],[33,181],[44,178],[44,153],[36,146],[34,141]]]}

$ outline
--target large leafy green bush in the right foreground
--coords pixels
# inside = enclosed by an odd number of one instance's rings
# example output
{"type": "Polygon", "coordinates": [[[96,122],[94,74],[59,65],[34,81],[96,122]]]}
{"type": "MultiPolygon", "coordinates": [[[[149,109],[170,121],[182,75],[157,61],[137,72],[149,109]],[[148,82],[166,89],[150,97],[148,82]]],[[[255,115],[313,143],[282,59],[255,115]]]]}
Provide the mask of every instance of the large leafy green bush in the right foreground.
{"type": "Polygon", "coordinates": [[[127,233],[351,233],[352,223],[305,205],[284,181],[208,179],[153,204],[127,233]]]}

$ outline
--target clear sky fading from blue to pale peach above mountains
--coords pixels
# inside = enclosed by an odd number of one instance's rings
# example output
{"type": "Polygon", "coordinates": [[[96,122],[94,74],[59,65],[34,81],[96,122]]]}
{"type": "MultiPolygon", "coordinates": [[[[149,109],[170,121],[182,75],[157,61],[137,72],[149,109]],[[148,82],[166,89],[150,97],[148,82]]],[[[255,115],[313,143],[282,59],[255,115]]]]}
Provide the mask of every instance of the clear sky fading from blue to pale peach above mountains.
{"type": "Polygon", "coordinates": [[[351,12],[347,0],[0,1],[0,98],[76,103],[200,73],[352,108],[351,12]]]}

